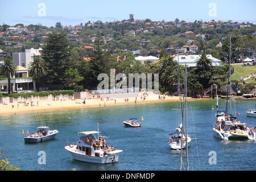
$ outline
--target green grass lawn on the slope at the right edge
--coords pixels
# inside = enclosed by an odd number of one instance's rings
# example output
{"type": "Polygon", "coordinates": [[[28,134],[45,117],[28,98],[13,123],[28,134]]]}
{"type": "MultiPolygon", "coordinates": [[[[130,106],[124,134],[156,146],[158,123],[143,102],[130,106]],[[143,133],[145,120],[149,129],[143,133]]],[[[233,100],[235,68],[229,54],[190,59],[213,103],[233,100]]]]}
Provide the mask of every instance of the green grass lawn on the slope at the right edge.
{"type": "MultiPolygon", "coordinates": [[[[250,67],[242,67],[242,65],[232,65],[234,68],[234,74],[232,75],[232,80],[239,81],[241,79],[241,76],[243,78],[247,77],[247,75],[251,75],[251,73],[256,73],[256,66],[250,66],[250,67]]],[[[246,82],[255,82],[254,79],[246,80],[246,82]]]]}

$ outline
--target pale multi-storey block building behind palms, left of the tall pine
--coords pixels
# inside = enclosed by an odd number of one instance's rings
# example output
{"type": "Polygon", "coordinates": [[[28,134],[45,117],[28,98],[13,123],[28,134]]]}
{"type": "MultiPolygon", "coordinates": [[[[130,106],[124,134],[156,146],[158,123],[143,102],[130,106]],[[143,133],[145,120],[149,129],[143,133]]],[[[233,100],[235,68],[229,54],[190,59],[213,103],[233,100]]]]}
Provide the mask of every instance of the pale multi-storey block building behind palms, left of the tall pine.
{"type": "Polygon", "coordinates": [[[18,52],[13,53],[13,63],[18,66],[22,66],[24,68],[28,68],[28,64],[32,63],[34,56],[40,56],[40,51],[42,48],[39,49],[25,49],[25,52],[18,52]]]}

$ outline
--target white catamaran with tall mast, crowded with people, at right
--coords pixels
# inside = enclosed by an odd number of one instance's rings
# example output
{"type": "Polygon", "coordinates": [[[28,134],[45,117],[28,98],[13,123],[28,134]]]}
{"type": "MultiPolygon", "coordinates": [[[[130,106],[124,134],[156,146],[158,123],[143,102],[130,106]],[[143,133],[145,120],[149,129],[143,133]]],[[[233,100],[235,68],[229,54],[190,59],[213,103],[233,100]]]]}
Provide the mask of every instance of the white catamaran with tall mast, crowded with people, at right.
{"type": "MultiPolygon", "coordinates": [[[[226,102],[226,111],[218,110],[216,122],[213,126],[213,135],[221,140],[229,139],[249,139],[255,140],[255,129],[246,126],[245,122],[237,119],[236,112],[232,115],[231,99],[231,35],[230,35],[230,53],[229,53],[229,104],[230,113],[228,114],[228,102],[226,102]]],[[[228,94],[227,94],[228,101],[228,94]]]]}

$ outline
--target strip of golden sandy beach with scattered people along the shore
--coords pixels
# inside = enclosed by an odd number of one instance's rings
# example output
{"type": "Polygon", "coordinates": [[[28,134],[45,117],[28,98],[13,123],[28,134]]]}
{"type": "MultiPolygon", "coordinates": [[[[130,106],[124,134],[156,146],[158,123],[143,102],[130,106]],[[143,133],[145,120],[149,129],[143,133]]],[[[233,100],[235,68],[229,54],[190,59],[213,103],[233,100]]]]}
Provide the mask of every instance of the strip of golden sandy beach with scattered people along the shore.
{"type": "MultiPolygon", "coordinates": [[[[110,98],[110,100],[100,100],[100,99],[87,99],[85,104],[82,102],[84,100],[67,100],[67,101],[34,101],[29,103],[28,106],[18,103],[10,103],[8,105],[0,105],[0,114],[15,114],[15,113],[30,113],[33,111],[45,111],[45,110],[59,110],[59,109],[75,109],[80,107],[108,107],[113,105],[126,105],[126,104],[141,104],[141,103],[152,103],[152,102],[167,102],[167,101],[178,101],[179,97],[176,96],[165,96],[163,99],[159,99],[158,94],[149,94],[146,99],[141,99],[141,96],[137,97],[135,103],[135,97],[130,97],[128,101],[125,98],[110,98]]],[[[188,100],[195,100],[195,98],[187,98],[188,100]]]]}

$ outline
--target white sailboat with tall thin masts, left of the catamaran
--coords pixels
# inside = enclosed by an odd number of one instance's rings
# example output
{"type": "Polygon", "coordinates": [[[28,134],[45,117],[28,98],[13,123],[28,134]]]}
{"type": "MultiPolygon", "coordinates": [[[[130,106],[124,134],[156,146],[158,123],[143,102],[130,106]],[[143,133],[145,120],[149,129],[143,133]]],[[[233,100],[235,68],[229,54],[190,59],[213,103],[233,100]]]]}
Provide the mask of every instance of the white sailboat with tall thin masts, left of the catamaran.
{"type": "MultiPolygon", "coordinates": [[[[178,69],[179,69],[179,59],[178,59],[178,69]]],[[[180,86],[180,72],[179,72],[179,86],[180,86]]],[[[191,138],[188,136],[187,132],[184,133],[183,109],[181,104],[180,89],[178,89],[178,93],[180,95],[180,110],[181,110],[182,119],[179,127],[175,129],[175,132],[169,134],[171,136],[169,137],[168,143],[171,149],[173,150],[182,150],[182,148],[187,147],[188,143],[191,142],[191,138]]],[[[185,119],[186,119],[186,125],[187,125],[187,66],[186,65],[185,65],[185,119]]],[[[187,129],[187,126],[186,126],[186,129],[187,129]]]]}

